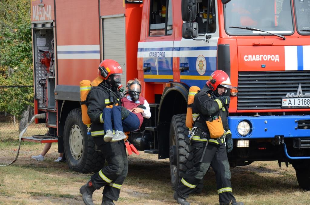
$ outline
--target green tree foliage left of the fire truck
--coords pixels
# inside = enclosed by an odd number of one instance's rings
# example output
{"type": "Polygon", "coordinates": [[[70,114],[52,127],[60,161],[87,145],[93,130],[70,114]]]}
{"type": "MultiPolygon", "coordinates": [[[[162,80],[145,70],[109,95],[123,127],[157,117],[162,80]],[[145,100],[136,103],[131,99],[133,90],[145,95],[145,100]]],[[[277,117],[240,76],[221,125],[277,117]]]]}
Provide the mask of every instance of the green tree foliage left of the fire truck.
{"type": "MultiPolygon", "coordinates": [[[[0,86],[33,85],[29,0],[0,0],[0,86]]],[[[20,117],[33,88],[0,88],[0,111],[20,117]]]]}

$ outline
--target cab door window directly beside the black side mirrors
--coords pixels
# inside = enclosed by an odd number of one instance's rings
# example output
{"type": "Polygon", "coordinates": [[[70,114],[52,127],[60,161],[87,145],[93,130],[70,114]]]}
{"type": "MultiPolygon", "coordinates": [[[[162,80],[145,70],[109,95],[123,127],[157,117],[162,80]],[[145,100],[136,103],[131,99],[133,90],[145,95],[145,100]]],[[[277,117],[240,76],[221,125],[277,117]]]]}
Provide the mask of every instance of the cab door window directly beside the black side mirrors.
{"type": "Polygon", "coordinates": [[[196,22],[198,23],[198,33],[215,33],[216,30],[216,14],[215,14],[215,0],[197,0],[197,15],[196,22]],[[209,25],[207,29],[207,17],[208,17],[208,3],[210,3],[209,9],[209,25]]]}

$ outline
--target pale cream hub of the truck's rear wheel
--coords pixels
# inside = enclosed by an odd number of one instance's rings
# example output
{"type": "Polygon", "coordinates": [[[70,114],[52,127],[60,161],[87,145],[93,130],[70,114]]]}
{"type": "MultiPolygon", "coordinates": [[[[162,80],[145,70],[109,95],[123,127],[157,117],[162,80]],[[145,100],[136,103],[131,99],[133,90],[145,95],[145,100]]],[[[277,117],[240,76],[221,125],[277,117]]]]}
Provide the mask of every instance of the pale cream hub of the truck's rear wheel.
{"type": "Polygon", "coordinates": [[[69,145],[73,158],[80,159],[83,152],[83,135],[77,124],[74,124],[70,130],[69,145]]]}

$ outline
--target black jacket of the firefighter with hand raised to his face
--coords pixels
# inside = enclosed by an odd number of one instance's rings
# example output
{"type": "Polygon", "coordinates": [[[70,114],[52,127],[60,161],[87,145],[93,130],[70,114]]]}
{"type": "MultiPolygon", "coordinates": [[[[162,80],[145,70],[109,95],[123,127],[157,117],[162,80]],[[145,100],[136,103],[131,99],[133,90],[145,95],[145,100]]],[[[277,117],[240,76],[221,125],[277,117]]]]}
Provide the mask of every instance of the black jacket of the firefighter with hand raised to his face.
{"type": "MultiPolygon", "coordinates": [[[[215,91],[212,91],[207,85],[205,85],[194,97],[193,102],[193,120],[195,130],[192,141],[194,142],[206,142],[209,138],[209,143],[221,145],[224,143],[223,138],[210,138],[210,133],[206,125],[206,120],[212,121],[213,117],[221,116],[224,130],[230,133],[228,127],[228,108],[218,99],[215,91]],[[205,134],[203,134],[203,132],[205,134]]],[[[195,143],[196,144],[196,143],[195,143]]],[[[197,145],[196,146],[203,146],[197,145]]]]}

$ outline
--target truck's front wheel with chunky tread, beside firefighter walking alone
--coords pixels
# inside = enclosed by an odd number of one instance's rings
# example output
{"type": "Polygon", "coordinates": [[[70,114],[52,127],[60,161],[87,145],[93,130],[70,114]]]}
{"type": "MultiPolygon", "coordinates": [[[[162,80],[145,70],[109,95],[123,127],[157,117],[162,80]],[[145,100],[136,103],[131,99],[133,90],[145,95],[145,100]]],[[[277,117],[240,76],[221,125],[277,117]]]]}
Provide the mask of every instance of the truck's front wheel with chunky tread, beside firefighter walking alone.
{"type": "MultiPolygon", "coordinates": [[[[188,128],[185,125],[186,114],[175,115],[171,119],[169,133],[170,179],[176,190],[187,169],[193,167],[191,145],[188,140],[188,128]]],[[[203,179],[196,186],[194,193],[201,193],[203,179]]]]}

